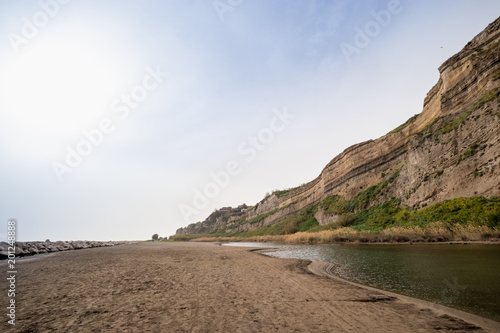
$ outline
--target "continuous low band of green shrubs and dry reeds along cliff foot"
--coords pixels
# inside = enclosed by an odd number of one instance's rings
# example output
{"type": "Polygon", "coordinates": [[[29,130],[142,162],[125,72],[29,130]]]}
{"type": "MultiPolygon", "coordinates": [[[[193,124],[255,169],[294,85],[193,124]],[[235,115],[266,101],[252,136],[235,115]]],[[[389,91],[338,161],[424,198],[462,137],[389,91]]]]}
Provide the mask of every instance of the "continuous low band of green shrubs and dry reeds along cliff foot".
{"type": "Polygon", "coordinates": [[[407,242],[459,241],[500,238],[500,198],[456,198],[411,210],[395,199],[358,213],[343,213],[337,222],[320,226],[318,206],[302,210],[277,224],[248,232],[175,235],[173,241],[281,241],[329,243],[339,241],[407,242]]]}

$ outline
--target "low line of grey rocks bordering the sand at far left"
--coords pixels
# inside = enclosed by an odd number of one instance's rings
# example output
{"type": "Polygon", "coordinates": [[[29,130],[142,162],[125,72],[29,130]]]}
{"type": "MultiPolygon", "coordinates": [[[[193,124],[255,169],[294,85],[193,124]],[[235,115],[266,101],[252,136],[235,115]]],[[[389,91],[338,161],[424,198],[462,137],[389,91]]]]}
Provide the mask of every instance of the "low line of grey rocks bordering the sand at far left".
{"type": "MultiPolygon", "coordinates": [[[[45,242],[16,242],[15,253],[16,258],[31,256],[41,253],[49,252],[60,252],[69,250],[80,250],[89,249],[93,247],[105,247],[105,246],[116,246],[122,244],[134,244],[135,241],[109,241],[109,242],[99,242],[99,241],[57,241],[51,242],[46,240],[45,242]]],[[[9,254],[10,245],[6,242],[0,242],[0,259],[7,259],[9,254]]]]}

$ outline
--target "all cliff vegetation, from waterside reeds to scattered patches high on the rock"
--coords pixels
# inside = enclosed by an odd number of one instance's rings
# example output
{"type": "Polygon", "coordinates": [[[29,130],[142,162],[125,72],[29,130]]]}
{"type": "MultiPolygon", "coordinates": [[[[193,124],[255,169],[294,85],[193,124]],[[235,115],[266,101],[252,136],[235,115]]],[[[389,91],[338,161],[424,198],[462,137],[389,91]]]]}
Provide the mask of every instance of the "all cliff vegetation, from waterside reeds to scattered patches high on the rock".
{"type": "MultiPolygon", "coordinates": [[[[483,93],[465,111],[452,117],[436,118],[419,135],[440,136],[459,128],[474,111],[487,103],[499,100],[500,88],[483,93]]],[[[410,119],[407,123],[411,123],[410,119]]],[[[407,124],[404,124],[405,126],[407,124]]],[[[404,126],[403,126],[404,127],[404,126]]],[[[485,145],[473,143],[458,154],[456,165],[461,161],[476,155],[485,149],[485,145]]],[[[353,239],[381,240],[454,240],[454,239],[487,239],[500,236],[500,197],[459,197],[444,200],[427,207],[409,207],[402,204],[402,198],[393,195],[393,187],[401,173],[396,169],[388,177],[383,173],[381,182],[370,186],[354,198],[347,200],[341,195],[325,197],[316,205],[309,205],[271,225],[264,225],[267,218],[287,209],[290,205],[274,208],[252,218],[245,213],[246,209],[238,207],[216,211],[203,222],[196,224],[196,230],[206,230],[206,233],[191,233],[175,235],[172,240],[214,239],[221,237],[255,238],[264,236],[285,236],[297,233],[298,238],[286,237],[289,241],[324,242],[353,239]],[[327,225],[320,225],[316,213],[321,210],[326,216],[335,220],[327,225]],[[226,222],[229,218],[236,222],[226,227],[213,228],[217,218],[226,222]],[[249,228],[241,228],[250,225],[249,228]],[[204,226],[205,228],[202,228],[204,226]],[[209,227],[212,227],[211,229],[209,227]],[[248,230],[250,229],[250,230],[248,230]],[[464,230],[467,230],[465,232],[464,230]],[[326,233],[325,233],[326,232],[326,233]],[[413,234],[415,237],[410,237],[413,234]],[[328,236],[325,236],[328,235],[328,236]],[[378,235],[375,237],[374,235],[378,235]],[[389,237],[389,235],[392,237],[389,237]],[[399,236],[396,236],[399,235],[399,236]],[[405,236],[401,236],[405,235],[405,236]],[[423,237],[422,235],[432,235],[423,237]],[[375,237],[375,238],[373,238],[375,237]],[[389,238],[388,238],[389,237],[389,238]]],[[[438,169],[433,178],[443,175],[444,170],[438,169]]],[[[474,177],[482,176],[475,171],[474,177]]],[[[427,181],[425,176],[423,181],[427,181]]],[[[275,191],[271,195],[277,198],[287,197],[296,189],[275,191]]],[[[411,193],[410,193],[411,194],[411,193]]],[[[410,195],[408,194],[408,195],[410,195]]],[[[266,196],[256,207],[264,203],[271,195],[266,196]]],[[[244,208],[247,208],[244,206],[244,208]]],[[[280,238],[281,239],[281,238],[280,238]]]]}

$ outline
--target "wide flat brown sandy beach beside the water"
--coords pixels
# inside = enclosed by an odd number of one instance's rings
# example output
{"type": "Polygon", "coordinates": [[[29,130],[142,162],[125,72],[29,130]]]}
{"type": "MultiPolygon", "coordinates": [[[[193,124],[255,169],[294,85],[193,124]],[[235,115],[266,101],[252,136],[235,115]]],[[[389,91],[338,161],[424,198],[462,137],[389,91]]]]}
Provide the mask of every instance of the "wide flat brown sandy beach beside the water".
{"type": "MultiPolygon", "coordinates": [[[[17,264],[1,332],[500,332],[500,324],[214,243],[139,243],[17,264]],[[460,319],[461,318],[461,319],[460,319]],[[479,327],[480,326],[480,327],[479,327]]],[[[7,266],[0,264],[7,275],[7,266]]]]}

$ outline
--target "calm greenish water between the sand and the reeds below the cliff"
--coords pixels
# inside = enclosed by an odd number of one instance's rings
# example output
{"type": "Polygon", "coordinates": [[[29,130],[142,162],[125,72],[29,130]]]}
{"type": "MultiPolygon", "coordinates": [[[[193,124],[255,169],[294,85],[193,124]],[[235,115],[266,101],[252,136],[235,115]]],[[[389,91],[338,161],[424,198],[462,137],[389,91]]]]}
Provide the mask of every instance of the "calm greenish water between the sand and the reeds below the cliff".
{"type": "Polygon", "coordinates": [[[328,261],[346,280],[500,321],[500,245],[281,245],[279,258],[328,261]]]}

